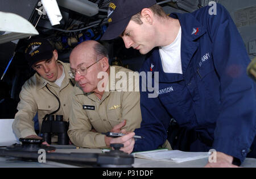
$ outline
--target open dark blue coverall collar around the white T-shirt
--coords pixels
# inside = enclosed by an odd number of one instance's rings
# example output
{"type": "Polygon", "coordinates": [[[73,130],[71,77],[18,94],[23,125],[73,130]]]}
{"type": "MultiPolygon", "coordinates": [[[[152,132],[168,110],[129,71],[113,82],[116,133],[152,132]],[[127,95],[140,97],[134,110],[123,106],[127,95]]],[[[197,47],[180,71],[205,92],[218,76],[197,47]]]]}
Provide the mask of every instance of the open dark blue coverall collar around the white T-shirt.
{"type": "MultiPolygon", "coordinates": [[[[196,40],[207,32],[202,24],[191,13],[172,13],[170,17],[179,19],[181,26],[181,64],[183,74],[164,73],[161,60],[159,59],[159,48],[156,47],[153,49],[152,53],[150,53],[150,64],[154,65],[152,72],[160,72],[159,82],[184,80],[189,61],[199,47],[199,43],[196,40]]],[[[148,69],[149,68],[150,67],[148,66],[148,69]]],[[[152,73],[152,76],[154,76],[154,73],[152,73]]]]}

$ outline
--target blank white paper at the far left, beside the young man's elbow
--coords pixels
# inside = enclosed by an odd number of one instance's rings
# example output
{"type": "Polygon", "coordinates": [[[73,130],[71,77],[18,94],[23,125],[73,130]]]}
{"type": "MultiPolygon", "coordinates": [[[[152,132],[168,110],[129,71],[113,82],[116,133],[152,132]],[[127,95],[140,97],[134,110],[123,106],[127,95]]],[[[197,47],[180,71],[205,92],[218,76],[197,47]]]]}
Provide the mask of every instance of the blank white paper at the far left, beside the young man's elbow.
{"type": "Polygon", "coordinates": [[[14,119],[0,119],[0,146],[9,146],[19,143],[13,132],[14,119]]]}

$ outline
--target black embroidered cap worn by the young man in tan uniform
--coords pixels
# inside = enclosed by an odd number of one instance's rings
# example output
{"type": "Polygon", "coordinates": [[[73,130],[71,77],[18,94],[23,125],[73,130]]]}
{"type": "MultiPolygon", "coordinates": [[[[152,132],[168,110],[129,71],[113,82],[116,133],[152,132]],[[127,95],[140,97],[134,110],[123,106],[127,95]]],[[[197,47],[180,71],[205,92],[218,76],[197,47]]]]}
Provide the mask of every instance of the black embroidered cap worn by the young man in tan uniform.
{"type": "Polygon", "coordinates": [[[38,61],[51,59],[54,49],[48,40],[44,38],[34,38],[27,42],[24,51],[28,65],[32,66],[38,61]]]}

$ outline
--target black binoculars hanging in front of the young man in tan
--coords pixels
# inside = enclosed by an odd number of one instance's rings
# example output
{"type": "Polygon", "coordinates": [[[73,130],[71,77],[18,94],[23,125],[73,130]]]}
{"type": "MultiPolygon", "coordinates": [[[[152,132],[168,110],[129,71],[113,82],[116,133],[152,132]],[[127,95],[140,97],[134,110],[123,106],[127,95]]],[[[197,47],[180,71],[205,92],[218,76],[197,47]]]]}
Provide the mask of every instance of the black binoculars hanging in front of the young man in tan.
{"type": "Polygon", "coordinates": [[[42,122],[41,134],[48,144],[52,143],[52,136],[57,135],[59,145],[68,145],[68,127],[69,123],[63,121],[63,115],[56,115],[56,120],[54,120],[54,115],[48,115],[47,119],[42,122]]]}

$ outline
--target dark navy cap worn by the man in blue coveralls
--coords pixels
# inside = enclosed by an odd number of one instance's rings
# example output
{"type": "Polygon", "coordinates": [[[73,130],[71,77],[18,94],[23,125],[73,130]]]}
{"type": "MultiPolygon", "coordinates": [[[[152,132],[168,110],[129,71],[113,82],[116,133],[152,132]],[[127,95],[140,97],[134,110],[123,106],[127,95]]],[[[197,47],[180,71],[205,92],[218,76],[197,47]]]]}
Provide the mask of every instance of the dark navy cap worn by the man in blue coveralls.
{"type": "Polygon", "coordinates": [[[112,40],[125,31],[131,17],[156,4],[155,0],[112,0],[109,4],[109,27],[101,40],[112,40]]]}

